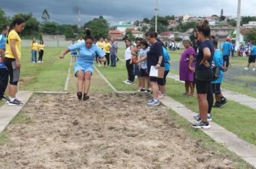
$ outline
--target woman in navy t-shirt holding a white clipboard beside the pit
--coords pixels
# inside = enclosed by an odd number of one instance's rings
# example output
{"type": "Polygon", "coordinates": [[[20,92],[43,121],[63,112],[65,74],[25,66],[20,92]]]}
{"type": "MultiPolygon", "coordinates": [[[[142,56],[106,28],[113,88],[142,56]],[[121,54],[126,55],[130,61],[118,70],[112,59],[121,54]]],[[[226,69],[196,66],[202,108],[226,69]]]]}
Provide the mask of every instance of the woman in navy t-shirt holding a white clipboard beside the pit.
{"type": "MultiPolygon", "coordinates": [[[[150,73],[150,67],[155,66],[156,69],[163,67],[163,47],[161,42],[157,42],[157,33],[147,32],[147,41],[150,42],[150,51],[147,52],[147,72],[150,73]]],[[[150,87],[153,92],[153,99],[147,105],[160,105],[158,100],[159,87],[158,83],[163,79],[157,77],[150,77],[150,87]]]]}

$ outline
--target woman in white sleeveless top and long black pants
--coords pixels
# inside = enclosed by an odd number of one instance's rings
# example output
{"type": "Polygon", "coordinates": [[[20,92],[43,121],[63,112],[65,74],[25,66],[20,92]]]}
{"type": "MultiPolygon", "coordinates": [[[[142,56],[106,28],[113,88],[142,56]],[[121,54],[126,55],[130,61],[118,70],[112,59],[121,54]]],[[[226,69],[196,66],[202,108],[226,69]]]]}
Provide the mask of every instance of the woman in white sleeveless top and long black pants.
{"type": "Polygon", "coordinates": [[[134,53],[134,47],[132,46],[132,41],[127,39],[126,41],[127,49],[125,50],[125,62],[127,67],[128,79],[124,81],[126,84],[134,84],[134,67],[132,64],[132,53],[134,53]]]}

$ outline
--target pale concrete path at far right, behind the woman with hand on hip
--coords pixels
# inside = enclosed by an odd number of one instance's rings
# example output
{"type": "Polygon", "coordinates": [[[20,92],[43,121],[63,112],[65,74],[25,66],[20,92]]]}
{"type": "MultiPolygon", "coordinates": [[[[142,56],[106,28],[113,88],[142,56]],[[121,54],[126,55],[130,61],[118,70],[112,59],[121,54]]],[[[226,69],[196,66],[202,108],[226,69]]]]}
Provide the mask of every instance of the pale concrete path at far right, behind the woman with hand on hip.
{"type": "MultiPolygon", "coordinates": [[[[180,77],[177,74],[168,74],[168,77],[170,79],[174,79],[178,82],[184,83],[183,81],[180,81],[180,77]]],[[[226,90],[223,88],[221,88],[221,92],[224,95],[224,97],[227,97],[228,100],[233,100],[235,102],[239,102],[241,105],[245,105],[247,107],[250,107],[250,108],[256,110],[256,98],[255,97],[250,97],[250,96],[243,95],[238,92],[226,90]]]]}

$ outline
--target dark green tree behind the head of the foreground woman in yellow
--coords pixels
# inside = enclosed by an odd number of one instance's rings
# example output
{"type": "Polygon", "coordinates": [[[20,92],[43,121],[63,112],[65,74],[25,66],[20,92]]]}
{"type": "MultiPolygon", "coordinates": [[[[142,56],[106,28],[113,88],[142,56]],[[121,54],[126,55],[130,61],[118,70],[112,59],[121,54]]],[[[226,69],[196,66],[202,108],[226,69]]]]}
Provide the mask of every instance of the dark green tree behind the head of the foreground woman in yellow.
{"type": "Polygon", "coordinates": [[[39,21],[32,15],[29,14],[16,14],[12,17],[12,21],[17,18],[24,18],[26,21],[26,27],[24,31],[22,31],[22,36],[34,36],[37,37],[39,35],[39,21]]]}

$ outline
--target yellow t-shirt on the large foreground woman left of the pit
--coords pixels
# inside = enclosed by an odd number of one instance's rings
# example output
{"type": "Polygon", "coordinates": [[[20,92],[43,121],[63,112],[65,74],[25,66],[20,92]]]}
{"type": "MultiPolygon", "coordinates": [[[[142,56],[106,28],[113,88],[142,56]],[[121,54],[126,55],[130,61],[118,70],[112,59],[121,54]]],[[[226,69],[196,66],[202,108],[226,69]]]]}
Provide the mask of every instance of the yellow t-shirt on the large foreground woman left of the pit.
{"type": "Polygon", "coordinates": [[[20,59],[20,57],[22,57],[22,47],[21,47],[22,39],[20,39],[19,34],[14,30],[12,30],[8,34],[8,38],[7,38],[8,43],[6,43],[6,52],[5,52],[4,57],[15,59],[14,55],[12,54],[12,50],[11,50],[11,39],[16,40],[15,50],[17,52],[17,57],[20,59]]]}

